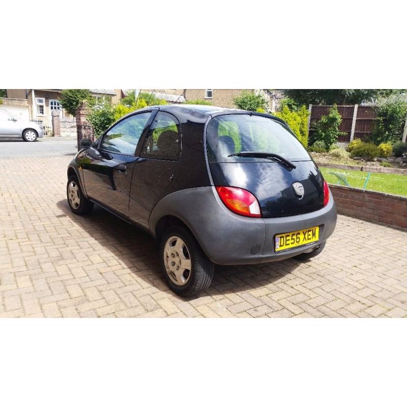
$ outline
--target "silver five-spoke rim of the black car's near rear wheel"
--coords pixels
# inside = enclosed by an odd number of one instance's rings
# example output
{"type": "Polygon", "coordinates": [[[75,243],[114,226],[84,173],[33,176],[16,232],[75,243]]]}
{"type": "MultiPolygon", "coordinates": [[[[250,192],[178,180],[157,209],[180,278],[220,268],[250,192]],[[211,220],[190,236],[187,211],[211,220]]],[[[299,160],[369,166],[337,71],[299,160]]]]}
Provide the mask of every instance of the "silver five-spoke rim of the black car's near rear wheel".
{"type": "Polygon", "coordinates": [[[165,243],[164,266],[174,284],[185,285],[191,277],[191,256],[179,236],[171,236],[165,243]]]}

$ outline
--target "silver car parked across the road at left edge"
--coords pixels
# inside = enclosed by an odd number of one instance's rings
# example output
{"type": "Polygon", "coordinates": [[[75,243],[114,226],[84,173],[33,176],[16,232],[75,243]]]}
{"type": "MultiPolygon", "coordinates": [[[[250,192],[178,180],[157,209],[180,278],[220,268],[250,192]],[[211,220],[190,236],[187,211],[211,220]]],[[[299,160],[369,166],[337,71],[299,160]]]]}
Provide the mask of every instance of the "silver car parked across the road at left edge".
{"type": "Polygon", "coordinates": [[[38,137],[43,136],[43,131],[37,123],[18,119],[7,110],[0,109],[0,138],[36,141],[38,137]]]}

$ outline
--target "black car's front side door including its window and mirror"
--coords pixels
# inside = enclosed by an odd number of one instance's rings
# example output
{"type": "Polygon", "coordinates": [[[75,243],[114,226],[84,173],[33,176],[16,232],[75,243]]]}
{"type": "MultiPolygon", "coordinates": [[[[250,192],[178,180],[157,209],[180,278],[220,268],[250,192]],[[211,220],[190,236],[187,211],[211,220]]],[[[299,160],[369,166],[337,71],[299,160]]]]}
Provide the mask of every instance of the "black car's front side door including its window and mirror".
{"type": "Polygon", "coordinates": [[[82,159],[86,194],[107,209],[129,216],[129,195],[136,148],[155,111],[142,111],[121,120],[102,136],[97,148],[82,159]]]}

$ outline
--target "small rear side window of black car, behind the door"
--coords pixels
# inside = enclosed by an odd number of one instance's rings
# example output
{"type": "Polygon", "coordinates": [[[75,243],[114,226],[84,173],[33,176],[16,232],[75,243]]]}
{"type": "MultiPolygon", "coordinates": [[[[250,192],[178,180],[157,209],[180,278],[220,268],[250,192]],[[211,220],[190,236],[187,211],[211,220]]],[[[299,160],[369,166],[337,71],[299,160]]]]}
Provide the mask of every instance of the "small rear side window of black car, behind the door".
{"type": "Polygon", "coordinates": [[[172,114],[158,112],[144,141],[141,157],[178,160],[181,156],[181,129],[172,114]]]}

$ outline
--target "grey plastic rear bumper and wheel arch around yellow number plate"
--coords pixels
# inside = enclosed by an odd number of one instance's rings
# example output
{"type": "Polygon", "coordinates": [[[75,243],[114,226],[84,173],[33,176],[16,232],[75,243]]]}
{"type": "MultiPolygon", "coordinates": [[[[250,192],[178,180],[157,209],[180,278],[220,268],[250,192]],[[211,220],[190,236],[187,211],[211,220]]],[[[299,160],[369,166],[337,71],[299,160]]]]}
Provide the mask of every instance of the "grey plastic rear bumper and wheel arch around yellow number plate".
{"type": "Polygon", "coordinates": [[[158,221],[166,215],[180,218],[207,256],[220,265],[257,264],[293,257],[326,241],[336,225],[332,194],[328,205],[315,212],[283,218],[248,218],[230,212],[214,187],[185,189],[162,198],[150,216],[153,235],[158,221]],[[320,226],[319,242],[275,253],[275,235],[313,226],[320,226]]]}

